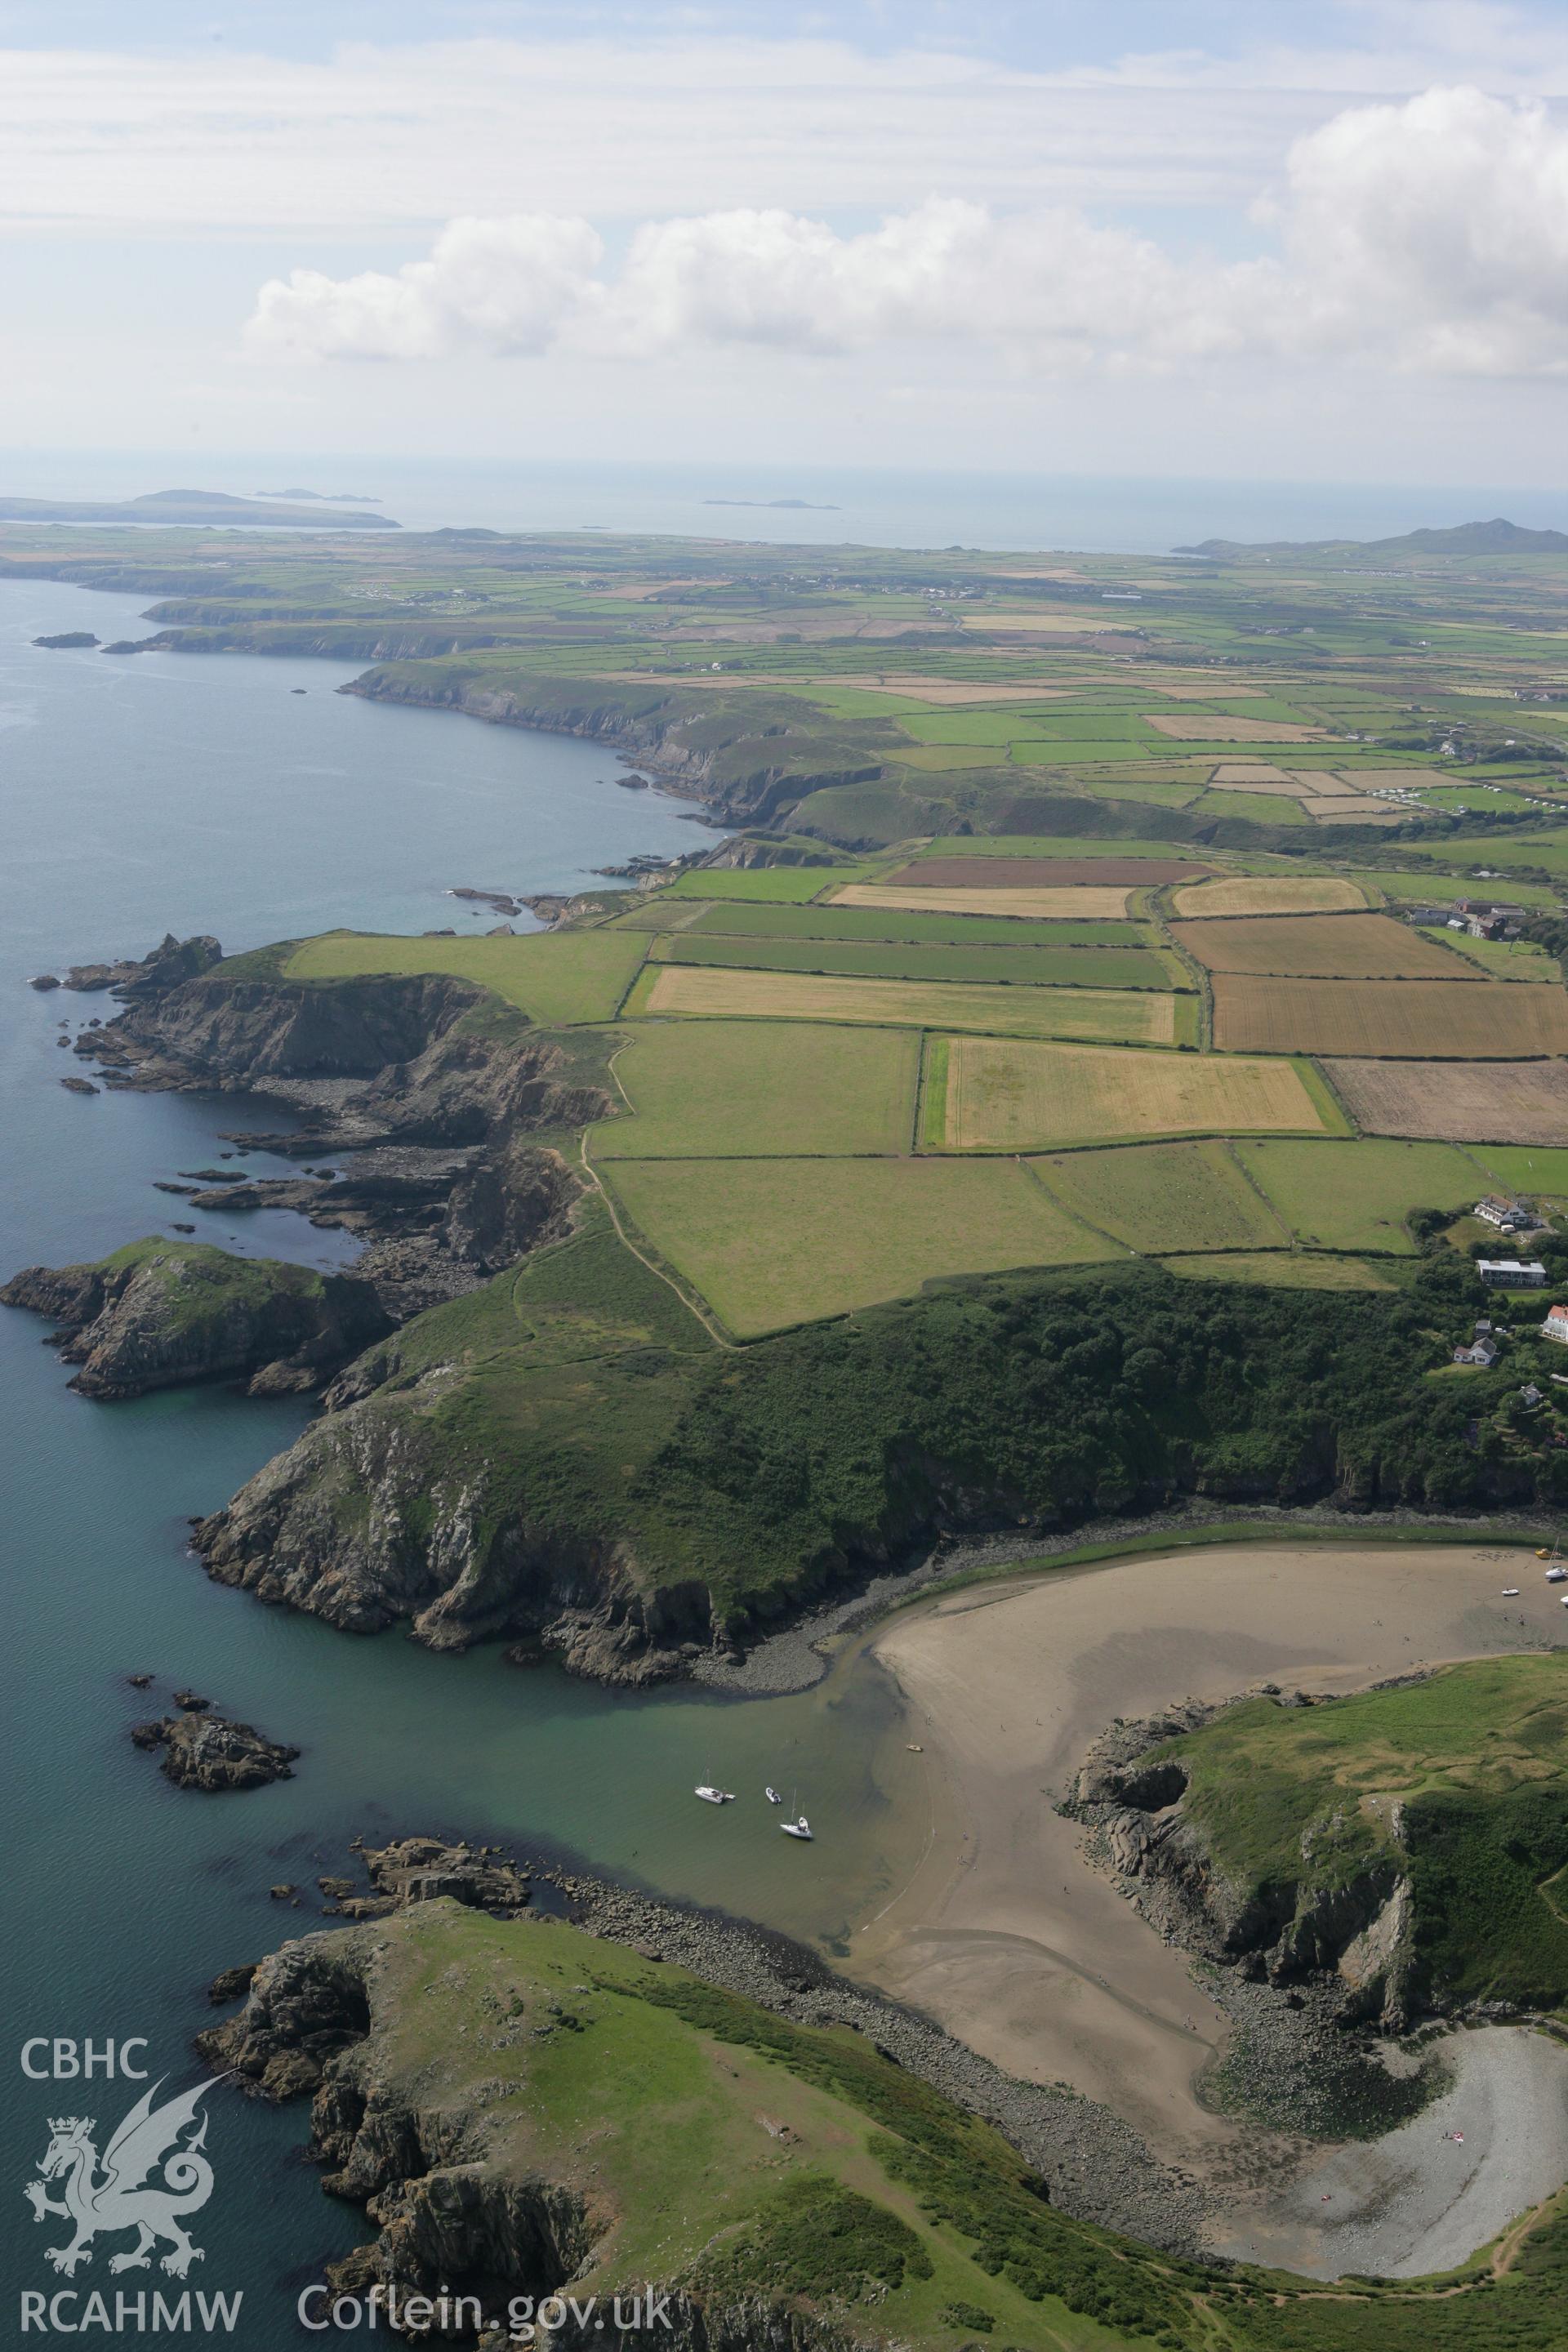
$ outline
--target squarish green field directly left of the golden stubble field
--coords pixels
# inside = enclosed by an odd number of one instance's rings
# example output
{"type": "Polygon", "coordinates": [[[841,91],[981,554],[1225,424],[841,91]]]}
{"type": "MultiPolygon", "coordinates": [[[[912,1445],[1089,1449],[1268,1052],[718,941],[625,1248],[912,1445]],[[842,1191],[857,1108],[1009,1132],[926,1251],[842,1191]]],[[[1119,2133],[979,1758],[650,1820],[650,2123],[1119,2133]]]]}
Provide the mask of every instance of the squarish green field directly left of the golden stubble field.
{"type": "Polygon", "coordinates": [[[590,1134],[595,1160],[903,1152],[919,1037],[783,1021],[644,1021],[616,1056],[632,1117],[590,1134]]]}

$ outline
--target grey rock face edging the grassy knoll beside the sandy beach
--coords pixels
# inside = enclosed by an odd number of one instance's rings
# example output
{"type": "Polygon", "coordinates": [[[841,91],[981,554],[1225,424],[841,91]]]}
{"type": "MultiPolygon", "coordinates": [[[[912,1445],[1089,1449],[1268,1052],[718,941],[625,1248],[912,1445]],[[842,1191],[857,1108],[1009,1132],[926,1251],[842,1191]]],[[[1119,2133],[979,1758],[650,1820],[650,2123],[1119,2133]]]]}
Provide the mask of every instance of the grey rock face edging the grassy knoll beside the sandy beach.
{"type": "MultiPolygon", "coordinates": [[[[1269,1686],[1269,1696],[1279,1693],[1269,1686]]],[[[1286,1693],[1281,1703],[1309,1700],[1286,1693]]],[[[1190,1700],[1112,1726],[1088,1750],[1060,1811],[1086,1823],[1091,1860],[1187,1950],[1269,1985],[1312,1980],[1333,1992],[1345,2023],[1378,2018],[1392,2032],[1403,2030],[1415,1955],[1399,1853],[1368,1853],[1354,1875],[1316,1884],[1305,1851],[1300,1884],[1265,1891],[1232,1884],[1182,1813],[1185,1766],[1150,1752],[1220,1712],[1190,1700]]]]}

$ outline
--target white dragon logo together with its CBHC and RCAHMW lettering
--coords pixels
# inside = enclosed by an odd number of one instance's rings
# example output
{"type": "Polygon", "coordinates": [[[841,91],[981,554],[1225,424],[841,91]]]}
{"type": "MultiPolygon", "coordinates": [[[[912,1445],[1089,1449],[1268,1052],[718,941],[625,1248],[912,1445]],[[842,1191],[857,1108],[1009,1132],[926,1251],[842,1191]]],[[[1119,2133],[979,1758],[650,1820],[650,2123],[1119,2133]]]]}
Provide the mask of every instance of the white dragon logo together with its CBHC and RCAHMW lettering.
{"type": "MultiPolygon", "coordinates": [[[[71,2042],[35,2034],[21,2044],[21,2072],[33,2082],[92,2082],[96,2074],[146,2082],[143,2039],[71,2042]]],[[[212,2161],[205,2154],[207,2117],[200,2112],[212,2082],[181,2091],[153,2105],[160,2077],[110,2131],[99,2154],[99,2122],[92,2114],[52,2114],[49,2140],[38,2159],[38,2176],[24,2183],[24,2197],[38,2223],[68,2223],[71,2234],[42,2249],[45,2263],[75,2279],[92,2263],[96,2237],[136,2232],[134,2246],[113,2253],[110,2277],[127,2270],[158,2267],[183,2279],[202,2249],[193,2244],[186,2223],[212,2197],[212,2161]],[[160,2251],[160,2249],[167,2249],[160,2251]]],[[[78,2286],[54,2293],[24,2288],[21,2333],[233,2333],[242,2293],[193,2293],[115,2288],[113,2293],[78,2286]]]]}

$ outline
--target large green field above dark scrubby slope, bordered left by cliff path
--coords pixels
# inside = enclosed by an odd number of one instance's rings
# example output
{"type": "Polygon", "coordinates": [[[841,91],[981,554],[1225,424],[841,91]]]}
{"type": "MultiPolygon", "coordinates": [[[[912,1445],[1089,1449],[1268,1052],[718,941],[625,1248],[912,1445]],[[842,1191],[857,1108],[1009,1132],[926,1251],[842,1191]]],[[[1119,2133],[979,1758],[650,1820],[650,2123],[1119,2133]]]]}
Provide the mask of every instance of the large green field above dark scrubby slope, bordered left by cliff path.
{"type": "Polygon", "coordinates": [[[943,1275],[1119,1256],[1016,1160],[618,1160],[607,1181],[736,1338],[943,1275]]]}

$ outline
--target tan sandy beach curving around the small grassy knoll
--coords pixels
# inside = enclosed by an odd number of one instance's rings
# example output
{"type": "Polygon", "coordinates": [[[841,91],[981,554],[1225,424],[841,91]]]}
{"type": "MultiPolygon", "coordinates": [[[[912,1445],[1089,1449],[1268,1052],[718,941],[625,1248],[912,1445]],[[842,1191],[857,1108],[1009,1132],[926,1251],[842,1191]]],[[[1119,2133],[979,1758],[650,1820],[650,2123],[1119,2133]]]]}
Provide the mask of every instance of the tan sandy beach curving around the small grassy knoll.
{"type": "MultiPolygon", "coordinates": [[[[933,1837],[903,1893],[856,1933],[851,1971],[1009,2072],[1114,2107],[1164,2159],[1241,2190],[1291,2147],[1239,2133],[1201,2105],[1197,2077],[1225,2018],[1182,1952],[1079,1860],[1077,1828],[1053,1813],[1053,1797],[1114,1717],[1265,1679],[1352,1691],[1446,1658],[1563,1642],[1568,1613],[1533,1555],[1488,1545],[1234,1543],[1046,1571],[910,1609],[872,1649],[926,1750],[933,1837]],[[1505,1599],[1505,1585],[1521,1585],[1521,1597],[1505,1599]]],[[[1556,2180],[1563,2171],[1568,2112],[1556,2180]]],[[[1356,2204],[1373,2194],[1387,2204],[1394,2192],[1368,2180],[1356,2204]]],[[[1490,2211],[1488,2194],[1467,2190],[1462,2211],[1490,2211]]],[[[1422,2199],[1420,2227],[1401,2225],[1410,2244],[1469,2227],[1455,2199],[1448,2232],[1425,2190],[1422,2199]]]]}

